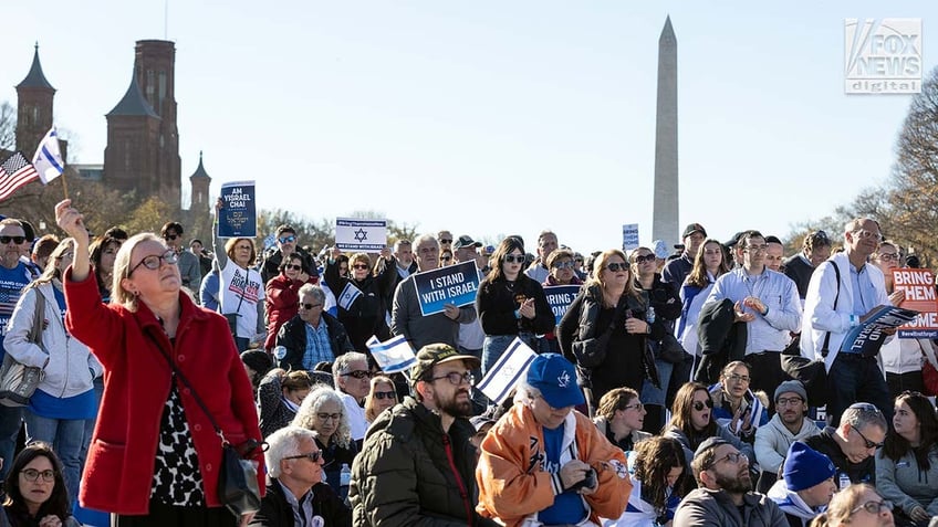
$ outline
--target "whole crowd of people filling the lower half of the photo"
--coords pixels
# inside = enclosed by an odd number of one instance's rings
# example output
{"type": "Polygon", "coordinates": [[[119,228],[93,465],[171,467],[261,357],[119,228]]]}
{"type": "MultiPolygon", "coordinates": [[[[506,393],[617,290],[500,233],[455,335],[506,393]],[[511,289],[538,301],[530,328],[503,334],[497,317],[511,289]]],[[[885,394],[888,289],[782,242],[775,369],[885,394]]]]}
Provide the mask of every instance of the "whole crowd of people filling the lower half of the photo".
{"type": "Polygon", "coordinates": [[[212,253],[178,222],[92,236],[55,212],[61,241],[0,220],[2,348],[44,372],[0,405],[0,526],[938,524],[932,341],[842,346],[915,264],[874,220],[789,257],[700,223],[677,252],[584,257],[551,231],[316,252],[291,225],[212,253]],[[475,304],[424,315],[415,275],[465,262],[475,304]],[[367,342],[398,336],[415,363],[383,372],[367,342]],[[475,384],[517,340],[536,356],[490,400],[475,384]],[[240,517],[228,446],[263,494],[240,517]]]}

